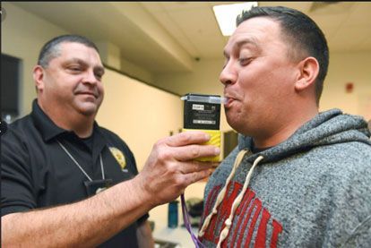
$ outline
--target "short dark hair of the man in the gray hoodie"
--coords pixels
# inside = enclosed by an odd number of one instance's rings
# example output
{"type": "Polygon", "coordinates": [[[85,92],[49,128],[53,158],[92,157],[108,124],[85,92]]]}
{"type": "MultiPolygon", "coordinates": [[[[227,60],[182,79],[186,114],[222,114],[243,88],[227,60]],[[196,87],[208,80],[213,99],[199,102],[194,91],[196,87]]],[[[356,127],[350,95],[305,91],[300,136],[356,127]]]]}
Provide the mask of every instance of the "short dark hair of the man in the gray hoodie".
{"type": "Polygon", "coordinates": [[[254,17],[268,17],[280,22],[284,37],[288,38],[289,55],[295,59],[313,56],[318,61],[319,73],[315,81],[317,105],[324,89],[324,78],[329,66],[329,48],[324,33],[305,13],[287,7],[253,7],[237,16],[237,26],[254,17]]]}

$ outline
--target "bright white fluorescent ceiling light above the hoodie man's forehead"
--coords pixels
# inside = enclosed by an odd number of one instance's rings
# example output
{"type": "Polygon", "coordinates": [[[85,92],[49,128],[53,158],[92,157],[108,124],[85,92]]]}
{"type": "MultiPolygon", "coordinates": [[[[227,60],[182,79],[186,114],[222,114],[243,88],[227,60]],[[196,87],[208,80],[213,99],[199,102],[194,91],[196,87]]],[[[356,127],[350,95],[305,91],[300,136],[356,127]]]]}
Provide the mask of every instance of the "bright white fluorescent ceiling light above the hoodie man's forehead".
{"type": "Polygon", "coordinates": [[[257,2],[213,6],[212,10],[215,13],[221,33],[224,36],[232,35],[233,31],[236,30],[237,15],[242,13],[243,10],[248,11],[253,6],[257,6],[257,2]]]}

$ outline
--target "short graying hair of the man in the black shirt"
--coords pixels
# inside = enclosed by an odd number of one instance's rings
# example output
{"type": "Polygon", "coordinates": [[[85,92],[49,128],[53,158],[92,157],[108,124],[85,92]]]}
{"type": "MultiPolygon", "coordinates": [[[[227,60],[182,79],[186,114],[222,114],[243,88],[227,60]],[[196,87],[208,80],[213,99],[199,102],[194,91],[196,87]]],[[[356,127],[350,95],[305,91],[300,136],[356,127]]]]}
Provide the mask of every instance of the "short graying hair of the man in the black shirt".
{"type": "Polygon", "coordinates": [[[44,68],[47,68],[50,60],[60,55],[59,45],[64,42],[80,43],[86,47],[94,48],[99,53],[98,47],[90,39],[80,35],[66,34],[47,41],[44,47],[42,47],[40,50],[38,64],[44,68]]]}

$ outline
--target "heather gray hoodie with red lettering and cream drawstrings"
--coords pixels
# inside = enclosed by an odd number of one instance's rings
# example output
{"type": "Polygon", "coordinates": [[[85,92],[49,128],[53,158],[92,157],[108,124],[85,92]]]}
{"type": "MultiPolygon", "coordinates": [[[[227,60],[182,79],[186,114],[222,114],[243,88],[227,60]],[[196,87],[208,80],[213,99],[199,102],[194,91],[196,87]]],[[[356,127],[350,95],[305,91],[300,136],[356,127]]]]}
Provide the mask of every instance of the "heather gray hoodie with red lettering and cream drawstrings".
{"type": "Polygon", "coordinates": [[[271,149],[251,148],[252,139],[240,135],[211,175],[203,244],[371,247],[371,141],[361,116],[332,109],[271,149]]]}

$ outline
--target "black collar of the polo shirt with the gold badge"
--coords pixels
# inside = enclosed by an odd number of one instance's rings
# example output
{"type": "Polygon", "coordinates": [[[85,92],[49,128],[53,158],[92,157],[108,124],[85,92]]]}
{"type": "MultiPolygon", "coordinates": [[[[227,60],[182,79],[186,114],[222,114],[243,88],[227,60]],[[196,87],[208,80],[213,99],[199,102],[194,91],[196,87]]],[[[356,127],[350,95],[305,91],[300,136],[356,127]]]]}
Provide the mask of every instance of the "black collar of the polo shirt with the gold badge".
{"type": "MultiPolygon", "coordinates": [[[[34,99],[32,102],[32,120],[35,126],[38,128],[39,133],[41,133],[44,141],[50,141],[56,136],[63,134],[72,134],[72,131],[65,130],[57,126],[50,118],[47,116],[44,111],[39,107],[38,100],[34,99]]],[[[96,130],[98,124],[94,121],[93,129],[96,130]]],[[[75,135],[75,134],[74,134],[75,135]]],[[[76,135],[77,136],[77,135],[76,135]]]]}

